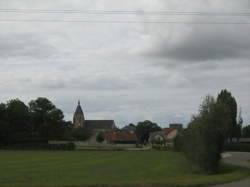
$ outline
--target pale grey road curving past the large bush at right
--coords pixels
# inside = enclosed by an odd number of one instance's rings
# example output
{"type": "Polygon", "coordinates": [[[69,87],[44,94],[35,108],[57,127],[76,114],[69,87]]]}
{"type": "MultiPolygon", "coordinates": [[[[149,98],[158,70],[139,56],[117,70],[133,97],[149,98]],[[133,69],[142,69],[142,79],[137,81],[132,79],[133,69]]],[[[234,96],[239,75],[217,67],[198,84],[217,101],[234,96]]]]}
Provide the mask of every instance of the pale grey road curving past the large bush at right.
{"type": "MultiPolygon", "coordinates": [[[[250,168],[250,162],[248,162],[248,160],[250,160],[250,153],[228,152],[224,153],[222,157],[223,161],[226,163],[250,168]]],[[[213,187],[249,187],[249,186],[250,186],[250,178],[232,183],[215,185],[213,187]]]]}

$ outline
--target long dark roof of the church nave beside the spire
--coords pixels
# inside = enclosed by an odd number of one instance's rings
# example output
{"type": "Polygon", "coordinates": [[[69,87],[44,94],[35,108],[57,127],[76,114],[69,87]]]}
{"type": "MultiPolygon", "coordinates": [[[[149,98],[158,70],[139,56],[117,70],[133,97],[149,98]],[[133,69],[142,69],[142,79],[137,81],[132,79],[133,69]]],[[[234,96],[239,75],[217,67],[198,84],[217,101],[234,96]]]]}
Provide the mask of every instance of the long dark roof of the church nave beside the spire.
{"type": "Polygon", "coordinates": [[[114,120],[85,120],[85,124],[89,129],[111,130],[115,128],[114,120]]]}

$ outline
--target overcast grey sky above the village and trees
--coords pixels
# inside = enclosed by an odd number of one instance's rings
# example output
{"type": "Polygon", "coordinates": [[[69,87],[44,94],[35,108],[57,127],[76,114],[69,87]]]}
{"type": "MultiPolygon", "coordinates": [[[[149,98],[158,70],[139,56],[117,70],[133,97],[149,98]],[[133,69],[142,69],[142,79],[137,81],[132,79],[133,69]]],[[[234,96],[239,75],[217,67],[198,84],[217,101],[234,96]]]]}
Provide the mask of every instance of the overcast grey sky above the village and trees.
{"type": "MultiPolygon", "coordinates": [[[[249,12],[250,1],[0,0],[0,9],[232,13],[249,12]]],[[[250,124],[250,25],[145,23],[157,21],[250,17],[0,12],[0,102],[48,97],[71,120],[80,99],[87,119],[166,127],[188,123],[205,95],[226,88],[250,124]]]]}

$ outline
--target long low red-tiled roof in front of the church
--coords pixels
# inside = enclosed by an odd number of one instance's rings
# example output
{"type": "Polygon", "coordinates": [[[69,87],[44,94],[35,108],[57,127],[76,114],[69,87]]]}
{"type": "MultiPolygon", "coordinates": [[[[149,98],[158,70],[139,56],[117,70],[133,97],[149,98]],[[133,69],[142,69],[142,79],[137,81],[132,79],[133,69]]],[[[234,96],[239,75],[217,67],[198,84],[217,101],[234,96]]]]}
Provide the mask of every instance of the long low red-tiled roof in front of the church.
{"type": "Polygon", "coordinates": [[[108,142],[114,141],[137,141],[137,137],[135,134],[131,133],[106,133],[105,139],[108,142]]]}

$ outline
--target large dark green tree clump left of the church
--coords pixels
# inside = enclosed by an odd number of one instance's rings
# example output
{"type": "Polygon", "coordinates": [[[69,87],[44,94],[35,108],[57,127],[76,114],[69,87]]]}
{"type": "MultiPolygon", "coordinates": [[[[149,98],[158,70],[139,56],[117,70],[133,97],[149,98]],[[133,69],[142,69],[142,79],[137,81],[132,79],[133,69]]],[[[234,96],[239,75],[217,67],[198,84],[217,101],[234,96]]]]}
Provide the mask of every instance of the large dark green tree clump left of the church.
{"type": "Polygon", "coordinates": [[[37,139],[61,139],[70,125],[63,112],[47,98],[39,97],[26,106],[19,99],[0,104],[0,142],[14,144],[37,139]]]}

